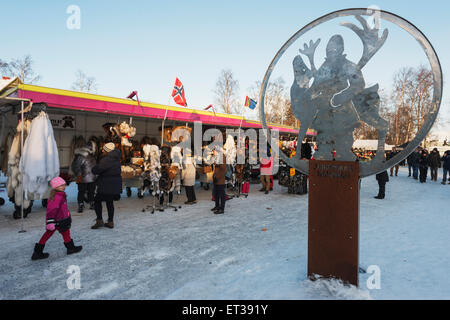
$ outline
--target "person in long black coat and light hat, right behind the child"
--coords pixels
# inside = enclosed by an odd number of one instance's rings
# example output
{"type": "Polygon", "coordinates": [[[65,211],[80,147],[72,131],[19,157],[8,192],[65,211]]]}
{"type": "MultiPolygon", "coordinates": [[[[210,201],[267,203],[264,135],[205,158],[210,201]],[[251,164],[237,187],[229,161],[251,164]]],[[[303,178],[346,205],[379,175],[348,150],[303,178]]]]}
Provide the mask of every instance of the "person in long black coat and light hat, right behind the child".
{"type": "Polygon", "coordinates": [[[122,167],[120,165],[121,153],[115,148],[114,143],[109,142],[103,146],[103,157],[99,163],[92,168],[92,173],[97,177],[97,195],[94,199],[97,221],[92,229],[100,227],[114,228],[114,200],[120,199],[122,193],[122,167]],[[108,210],[108,222],[103,223],[102,201],[106,202],[108,210]]]}

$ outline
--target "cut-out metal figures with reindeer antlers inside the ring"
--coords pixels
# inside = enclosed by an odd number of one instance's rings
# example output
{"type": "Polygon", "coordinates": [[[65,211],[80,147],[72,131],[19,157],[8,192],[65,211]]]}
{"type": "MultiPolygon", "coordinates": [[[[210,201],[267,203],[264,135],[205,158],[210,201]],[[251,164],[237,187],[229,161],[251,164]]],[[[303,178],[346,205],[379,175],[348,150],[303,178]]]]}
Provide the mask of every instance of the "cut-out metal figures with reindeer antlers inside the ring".
{"type": "MultiPolygon", "coordinates": [[[[314,53],[320,43],[310,41],[309,46],[299,50],[309,59],[309,69],[300,55],[293,61],[294,83],[291,86],[291,106],[294,116],[300,120],[298,141],[302,141],[308,128],[317,131],[317,160],[353,161],[353,130],[361,122],[378,130],[378,149],[375,161],[384,160],[384,144],[388,123],[379,115],[378,84],[365,88],[361,69],[375,55],[386,41],[388,30],[378,37],[379,21],[375,17],[375,27],[370,28],[367,21],[359,15],[355,18],[362,29],[351,23],[342,23],[353,30],[363,42],[363,55],[355,64],[344,54],[344,39],[333,35],[326,47],[325,62],[317,70],[314,53]],[[310,82],[313,82],[310,86],[310,82]]],[[[297,145],[296,155],[300,155],[297,145]]]]}

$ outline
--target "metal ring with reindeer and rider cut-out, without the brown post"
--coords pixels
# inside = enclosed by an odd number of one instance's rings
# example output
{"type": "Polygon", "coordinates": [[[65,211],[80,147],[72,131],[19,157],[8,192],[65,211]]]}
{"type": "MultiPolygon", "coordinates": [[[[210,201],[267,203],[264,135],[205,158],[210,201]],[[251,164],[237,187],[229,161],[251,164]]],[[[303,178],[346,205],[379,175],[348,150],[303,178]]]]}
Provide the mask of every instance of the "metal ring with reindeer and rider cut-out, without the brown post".
{"type": "MultiPolygon", "coordinates": [[[[346,58],[344,39],[341,35],[332,35],[326,45],[325,62],[316,69],[314,54],[320,43],[310,41],[304,44],[300,53],[307,57],[310,67],[305,64],[301,55],[294,58],[292,66],[294,83],[291,87],[291,108],[294,116],[300,121],[297,148],[306,135],[308,128],[317,131],[318,151],[314,154],[316,160],[355,161],[352,152],[353,130],[364,122],[378,131],[378,148],[376,156],[369,162],[360,163],[360,177],[370,176],[392,167],[406,158],[425,138],[436,120],[442,98],[442,71],[439,59],[431,43],[425,35],[407,20],[383,10],[346,9],[329,13],[300,29],[278,51],[270,63],[260,92],[260,118],[263,127],[269,130],[265,119],[264,98],[270,75],[277,62],[302,35],[318,25],[339,17],[354,17],[361,27],[353,23],[341,23],[343,27],[354,31],[363,44],[363,53],[359,62],[355,63],[346,58]],[[363,16],[374,16],[375,26],[370,27],[363,16]],[[378,21],[376,21],[378,19],[378,21]],[[433,74],[433,99],[425,122],[414,139],[396,156],[386,161],[384,146],[388,132],[388,122],[379,115],[378,84],[365,87],[362,69],[370,59],[385,44],[388,30],[384,29],[379,35],[379,19],[389,21],[406,30],[424,49],[430,62],[433,74]]],[[[268,131],[269,132],[269,131],[268,131]]],[[[283,152],[280,157],[301,172],[308,174],[308,160],[300,159],[300,150],[296,156],[289,159],[283,152]]]]}

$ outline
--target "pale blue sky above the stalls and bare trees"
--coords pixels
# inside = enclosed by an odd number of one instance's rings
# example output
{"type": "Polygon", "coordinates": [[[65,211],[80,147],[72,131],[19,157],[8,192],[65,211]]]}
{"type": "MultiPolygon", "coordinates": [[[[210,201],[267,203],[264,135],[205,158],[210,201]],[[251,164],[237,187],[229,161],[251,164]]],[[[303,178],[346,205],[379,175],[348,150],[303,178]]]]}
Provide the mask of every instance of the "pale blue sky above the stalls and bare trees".
{"type": "MultiPolygon", "coordinates": [[[[43,86],[70,89],[81,69],[96,78],[99,94],[125,97],[138,90],[141,100],[171,105],[171,89],[179,77],[193,108],[214,102],[220,71],[231,69],[243,103],[249,88],[262,80],[278,49],[297,30],[328,12],[370,5],[421,29],[439,55],[444,76],[448,74],[450,4],[432,0],[9,1],[0,12],[5,30],[0,58],[31,54],[43,86]],[[66,27],[69,5],[81,9],[80,30],[66,27]]],[[[396,59],[370,69],[382,86],[389,86],[391,74],[404,66],[402,57],[405,63],[420,63],[416,53],[401,52],[403,40],[398,39],[383,48],[387,57],[396,59]]],[[[321,45],[325,44],[323,39],[321,45]]],[[[289,85],[290,75],[280,75],[289,85]]],[[[444,85],[443,115],[449,114],[447,88],[444,85]]],[[[257,111],[252,112],[248,116],[256,117],[257,111]]]]}

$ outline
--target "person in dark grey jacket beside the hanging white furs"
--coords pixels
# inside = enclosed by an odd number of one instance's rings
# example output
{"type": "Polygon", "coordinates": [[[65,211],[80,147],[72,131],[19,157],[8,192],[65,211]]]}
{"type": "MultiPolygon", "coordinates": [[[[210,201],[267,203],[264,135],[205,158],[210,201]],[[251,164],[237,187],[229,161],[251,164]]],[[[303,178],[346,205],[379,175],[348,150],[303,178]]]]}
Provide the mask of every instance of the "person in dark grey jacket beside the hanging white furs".
{"type": "Polygon", "coordinates": [[[92,173],[92,168],[97,163],[94,152],[91,147],[86,146],[75,149],[74,155],[71,168],[78,184],[78,212],[83,212],[85,201],[89,203],[89,209],[92,210],[94,209],[96,178],[92,173]]]}

